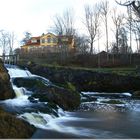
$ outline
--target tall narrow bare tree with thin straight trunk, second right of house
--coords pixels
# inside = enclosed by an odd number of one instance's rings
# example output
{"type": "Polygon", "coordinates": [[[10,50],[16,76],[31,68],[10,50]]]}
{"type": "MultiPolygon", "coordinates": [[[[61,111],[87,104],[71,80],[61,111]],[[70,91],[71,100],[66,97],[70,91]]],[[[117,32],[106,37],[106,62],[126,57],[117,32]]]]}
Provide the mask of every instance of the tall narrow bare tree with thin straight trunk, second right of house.
{"type": "MultiPolygon", "coordinates": [[[[109,52],[109,43],[108,43],[108,15],[109,15],[109,2],[108,1],[102,1],[101,2],[101,14],[103,17],[103,21],[105,24],[105,32],[106,32],[106,51],[107,54],[109,52]]],[[[107,60],[108,60],[108,55],[107,55],[107,60]]]]}

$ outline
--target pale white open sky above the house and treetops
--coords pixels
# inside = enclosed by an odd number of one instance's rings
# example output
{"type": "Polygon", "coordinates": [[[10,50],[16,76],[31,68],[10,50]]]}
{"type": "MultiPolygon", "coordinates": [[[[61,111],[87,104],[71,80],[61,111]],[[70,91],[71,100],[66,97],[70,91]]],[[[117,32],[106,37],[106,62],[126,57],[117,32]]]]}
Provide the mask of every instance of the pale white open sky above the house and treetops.
{"type": "MultiPolygon", "coordinates": [[[[96,0],[0,0],[0,30],[15,32],[17,41],[29,31],[33,36],[47,33],[53,25],[56,14],[61,15],[70,8],[75,12],[76,29],[85,32],[82,24],[84,5],[94,5],[96,0]]],[[[117,5],[115,0],[109,0],[111,5],[117,5]]],[[[15,47],[19,47],[16,44],[15,47]]]]}

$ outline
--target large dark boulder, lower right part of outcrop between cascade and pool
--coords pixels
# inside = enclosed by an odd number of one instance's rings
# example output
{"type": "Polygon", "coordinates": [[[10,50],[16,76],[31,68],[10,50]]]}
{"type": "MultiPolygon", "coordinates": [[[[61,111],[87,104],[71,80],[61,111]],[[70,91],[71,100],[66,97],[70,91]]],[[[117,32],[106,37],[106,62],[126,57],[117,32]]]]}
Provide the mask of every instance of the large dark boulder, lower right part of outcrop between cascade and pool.
{"type": "Polygon", "coordinates": [[[39,98],[40,102],[55,103],[64,110],[73,110],[80,105],[79,93],[57,86],[47,86],[40,92],[34,93],[32,97],[39,98]]]}

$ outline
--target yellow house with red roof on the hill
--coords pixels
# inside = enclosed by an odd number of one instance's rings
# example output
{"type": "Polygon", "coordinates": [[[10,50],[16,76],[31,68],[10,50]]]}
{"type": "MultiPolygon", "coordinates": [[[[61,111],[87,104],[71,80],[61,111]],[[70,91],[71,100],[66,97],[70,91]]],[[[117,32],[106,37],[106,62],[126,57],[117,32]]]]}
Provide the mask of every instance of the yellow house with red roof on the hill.
{"type": "Polygon", "coordinates": [[[31,37],[27,43],[21,46],[24,52],[41,49],[45,52],[59,52],[61,47],[67,47],[69,51],[74,50],[74,39],[72,36],[54,35],[52,33],[42,34],[39,37],[31,37]]]}

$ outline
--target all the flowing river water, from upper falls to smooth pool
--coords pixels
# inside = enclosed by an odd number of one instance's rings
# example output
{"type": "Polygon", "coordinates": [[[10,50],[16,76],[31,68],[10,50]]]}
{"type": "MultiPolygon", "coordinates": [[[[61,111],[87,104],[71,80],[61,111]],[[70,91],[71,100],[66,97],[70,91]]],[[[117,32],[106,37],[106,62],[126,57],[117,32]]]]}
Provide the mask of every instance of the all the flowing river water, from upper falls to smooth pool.
{"type": "MultiPolygon", "coordinates": [[[[35,76],[28,70],[6,67],[11,79],[35,76]]],[[[133,99],[130,93],[82,92],[83,99],[88,96],[97,100],[84,101],[73,112],[58,107],[52,110],[57,112],[56,117],[44,111],[47,102],[31,103],[29,91],[15,85],[13,88],[17,97],[1,101],[0,105],[38,128],[32,138],[140,138],[140,100],[133,99]]]]}

